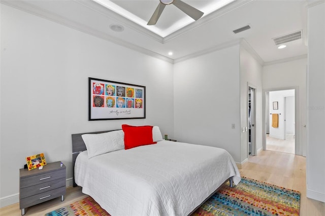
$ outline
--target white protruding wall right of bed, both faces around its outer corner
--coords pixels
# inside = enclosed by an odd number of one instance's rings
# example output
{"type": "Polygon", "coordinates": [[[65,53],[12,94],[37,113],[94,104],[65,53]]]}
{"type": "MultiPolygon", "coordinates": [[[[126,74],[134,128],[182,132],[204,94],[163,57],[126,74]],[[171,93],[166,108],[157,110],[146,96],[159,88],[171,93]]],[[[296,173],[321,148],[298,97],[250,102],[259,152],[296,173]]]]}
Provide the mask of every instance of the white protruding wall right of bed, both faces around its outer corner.
{"type": "Polygon", "coordinates": [[[242,44],[174,65],[175,138],[248,157],[248,84],[256,88],[256,148],[262,148],[262,66],[242,44]],[[238,119],[240,121],[238,121],[238,119]],[[235,129],[232,129],[235,124],[235,129]]]}

